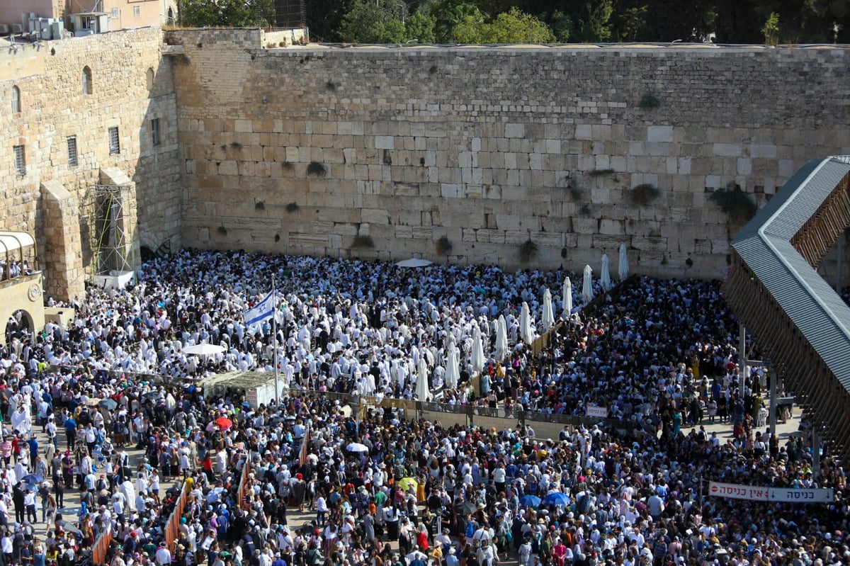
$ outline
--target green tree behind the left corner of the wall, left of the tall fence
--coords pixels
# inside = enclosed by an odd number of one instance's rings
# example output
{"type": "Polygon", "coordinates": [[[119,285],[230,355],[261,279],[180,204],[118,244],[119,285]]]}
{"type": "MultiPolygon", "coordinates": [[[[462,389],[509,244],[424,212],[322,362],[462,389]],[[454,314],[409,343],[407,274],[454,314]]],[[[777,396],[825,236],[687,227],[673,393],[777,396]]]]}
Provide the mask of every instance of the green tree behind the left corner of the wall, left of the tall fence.
{"type": "Polygon", "coordinates": [[[183,0],[180,24],[186,27],[251,27],[275,23],[274,0],[183,0]]]}

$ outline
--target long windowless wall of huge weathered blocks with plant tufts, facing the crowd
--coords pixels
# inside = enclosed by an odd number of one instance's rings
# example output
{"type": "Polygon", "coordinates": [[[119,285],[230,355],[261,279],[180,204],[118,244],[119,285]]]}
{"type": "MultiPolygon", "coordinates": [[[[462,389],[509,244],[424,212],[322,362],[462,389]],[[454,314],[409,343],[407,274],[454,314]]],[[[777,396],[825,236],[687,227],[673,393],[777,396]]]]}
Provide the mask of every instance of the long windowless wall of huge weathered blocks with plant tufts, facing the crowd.
{"type": "Polygon", "coordinates": [[[185,50],[187,246],[516,268],[530,240],[532,266],[598,272],[626,243],[633,270],[722,276],[737,227],[711,191],[740,184],[763,204],[808,159],[850,153],[841,48],[258,37],[167,32],[185,50]],[[635,190],[648,184],[657,199],[635,190]]]}

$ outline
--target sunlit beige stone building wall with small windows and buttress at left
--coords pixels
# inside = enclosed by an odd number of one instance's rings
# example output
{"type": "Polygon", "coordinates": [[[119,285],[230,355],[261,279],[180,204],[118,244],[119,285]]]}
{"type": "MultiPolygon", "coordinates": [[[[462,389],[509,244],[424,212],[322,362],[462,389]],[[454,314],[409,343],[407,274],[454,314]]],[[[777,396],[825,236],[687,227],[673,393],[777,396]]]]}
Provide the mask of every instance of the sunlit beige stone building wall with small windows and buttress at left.
{"type": "MultiPolygon", "coordinates": [[[[153,249],[180,245],[180,163],[171,61],[163,58],[158,28],[20,44],[0,52],[0,230],[36,235],[48,293],[82,293],[94,262],[96,229],[89,205],[104,171],[121,172],[138,203],[127,218],[133,241],[153,249]],[[83,70],[91,93],[83,92],[83,70]],[[20,90],[20,112],[11,105],[20,90]],[[159,119],[159,144],[151,121],[159,119]],[[109,128],[118,127],[120,151],[111,153],[109,128]],[[77,139],[77,165],[68,139],[77,139]],[[26,173],[17,174],[15,145],[23,145],[26,173]]],[[[114,175],[113,175],[114,177],[114,175]]]]}

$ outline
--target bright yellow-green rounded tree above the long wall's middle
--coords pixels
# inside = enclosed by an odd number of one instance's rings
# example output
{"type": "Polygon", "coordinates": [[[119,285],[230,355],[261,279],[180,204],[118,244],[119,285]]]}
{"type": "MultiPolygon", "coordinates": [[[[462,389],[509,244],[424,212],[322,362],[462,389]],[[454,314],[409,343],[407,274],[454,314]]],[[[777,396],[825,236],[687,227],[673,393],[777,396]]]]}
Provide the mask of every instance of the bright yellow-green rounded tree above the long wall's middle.
{"type": "Polygon", "coordinates": [[[517,8],[497,15],[492,23],[473,18],[462,20],[455,26],[454,34],[462,43],[551,43],[555,40],[548,25],[517,8]]]}

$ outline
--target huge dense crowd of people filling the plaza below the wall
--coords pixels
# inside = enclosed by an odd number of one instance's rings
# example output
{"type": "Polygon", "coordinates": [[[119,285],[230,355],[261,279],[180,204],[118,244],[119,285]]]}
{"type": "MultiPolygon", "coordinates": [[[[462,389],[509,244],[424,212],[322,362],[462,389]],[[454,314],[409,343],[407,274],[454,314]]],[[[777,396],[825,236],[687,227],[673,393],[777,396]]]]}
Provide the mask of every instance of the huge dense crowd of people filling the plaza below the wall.
{"type": "Polygon", "coordinates": [[[146,264],[127,290],[89,289],[67,305],[70,328],[48,323],[29,336],[9,325],[3,566],[19,557],[77,563],[107,529],[114,566],[850,562],[842,467],[827,444],[814,477],[802,436],[780,445],[760,430],[771,377],[738,375],[737,325],[718,283],[638,278],[573,314],[553,293],[562,323],[532,354],[520,308],[540,320],[545,289],[560,291],[567,275],[180,252],[146,264]],[[246,327],[243,313],[271,275],[277,319],[246,327]],[[495,354],[499,316],[512,345],[504,358],[495,354]],[[476,327],[487,361],[473,388],[476,327]],[[441,383],[450,341],[462,351],[456,388],[441,383]],[[184,353],[199,342],[226,349],[184,353]],[[525,418],[502,430],[444,427],[388,408],[351,416],[320,394],[413,399],[419,359],[447,403],[543,418],[595,405],[633,426],[564,427],[557,440],[538,439],[525,418]],[[238,390],[205,398],[193,379],[274,371],[275,360],[289,392],[279,406],[252,408],[238,390]],[[733,438],[706,433],[714,421],[728,422],[733,438]],[[45,446],[33,438],[39,426],[45,446]],[[131,466],[133,447],[145,457],[131,466]],[[45,481],[26,484],[27,474],[45,481]],[[711,480],[832,487],[836,501],[730,502],[707,496],[711,480]],[[188,504],[169,549],[164,524],[184,484],[188,504]],[[69,489],[82,506],[63,518],[69,489]],[[19,491],[42,501],[46,541],[35,540],[30,517],[17,520],[19,491]],[[295,509],[315,513],[307,528],[289,528],[295,509]]]}

